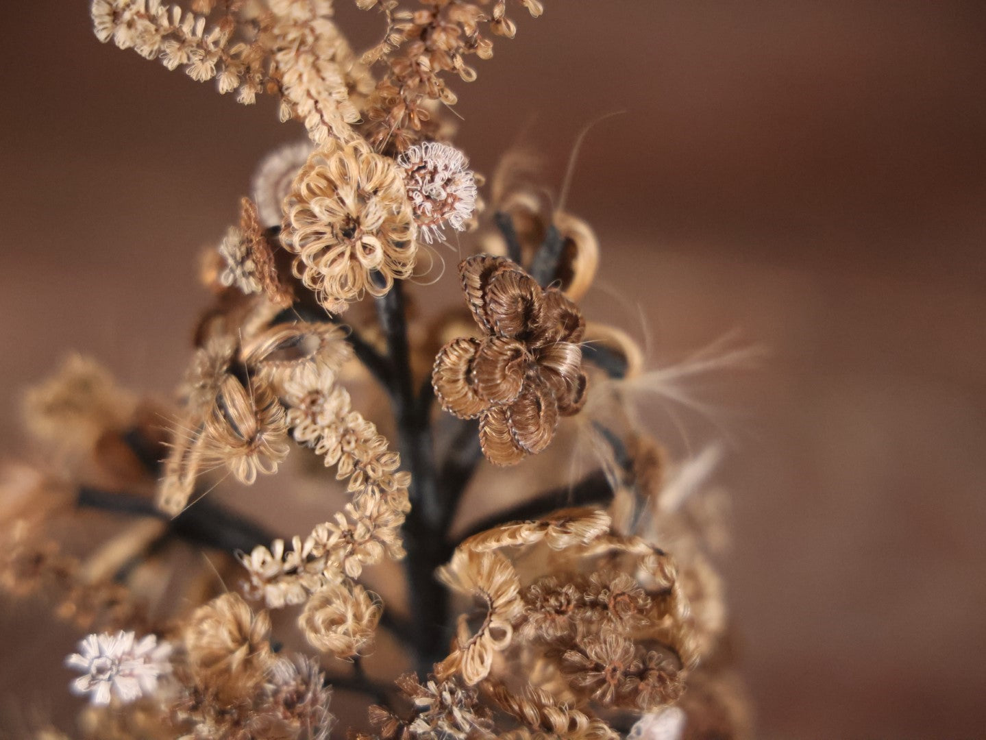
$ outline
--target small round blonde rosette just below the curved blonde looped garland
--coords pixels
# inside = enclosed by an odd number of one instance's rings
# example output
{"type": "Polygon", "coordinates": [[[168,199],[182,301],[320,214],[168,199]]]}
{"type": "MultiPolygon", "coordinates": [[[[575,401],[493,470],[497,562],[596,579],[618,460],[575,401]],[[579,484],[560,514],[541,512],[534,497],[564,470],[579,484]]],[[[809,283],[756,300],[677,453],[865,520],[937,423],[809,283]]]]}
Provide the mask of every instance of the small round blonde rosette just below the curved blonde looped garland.
{"type": "Polygon", "coordinates": [[[298,625],[319,650],[352,658],[372,647],[383,612],[380,596],[359,583],[328,583],[312,594],[298,625]]]}

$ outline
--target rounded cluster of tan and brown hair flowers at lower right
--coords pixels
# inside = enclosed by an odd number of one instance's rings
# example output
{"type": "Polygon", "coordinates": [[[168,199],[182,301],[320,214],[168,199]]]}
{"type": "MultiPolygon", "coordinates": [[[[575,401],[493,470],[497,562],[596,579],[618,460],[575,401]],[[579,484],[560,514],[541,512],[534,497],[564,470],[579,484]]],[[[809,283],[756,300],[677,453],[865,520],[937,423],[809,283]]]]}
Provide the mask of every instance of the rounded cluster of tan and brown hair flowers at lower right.
{"type": "Polygon", "coordinates": [[[697,664],[673,563],[644,540],[611,532],[602,511],[495,527],[465,540],[440,574],[485,616],[459,618],[455,649],[436,674],[486,687],[530,730],[557,733],[566,720],[552,712],[581,712],[584,736],[593,736],[600,710],[676,701],[697,664]],[[550,571],[538,574],[546,562],[550,571]],[[524,688],[518,675],[540,678],[524,688]]]}

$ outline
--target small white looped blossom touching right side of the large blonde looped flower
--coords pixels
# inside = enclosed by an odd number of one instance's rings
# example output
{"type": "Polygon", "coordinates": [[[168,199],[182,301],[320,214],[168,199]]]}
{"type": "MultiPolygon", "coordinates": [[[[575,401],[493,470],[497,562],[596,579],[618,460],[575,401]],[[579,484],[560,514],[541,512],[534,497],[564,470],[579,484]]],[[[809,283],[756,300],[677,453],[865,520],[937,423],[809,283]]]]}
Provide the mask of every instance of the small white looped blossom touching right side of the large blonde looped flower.
{"type": "Polygon", "coordinates": [[[404,169],[418,235],[430,244],[444,238],[446,224],[465,229],[476,207],[476,181],[465,155],[448,144],[426,142],[408,149],[397,164],[404,169]]]}

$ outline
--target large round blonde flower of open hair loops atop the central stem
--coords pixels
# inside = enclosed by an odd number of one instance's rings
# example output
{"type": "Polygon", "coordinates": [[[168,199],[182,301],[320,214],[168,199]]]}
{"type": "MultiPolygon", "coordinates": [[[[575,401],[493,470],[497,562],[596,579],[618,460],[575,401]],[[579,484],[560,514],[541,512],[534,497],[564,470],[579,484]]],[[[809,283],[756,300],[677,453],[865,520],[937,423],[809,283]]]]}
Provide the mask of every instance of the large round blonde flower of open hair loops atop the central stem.
{"type": "Polygon", "coordinates": [[[281,241],[297,255],[295,274],[337,313],[410,277],[415,231],[400,170],[353,143],[327,145],[309,158],[286,201],[281,241]]]}

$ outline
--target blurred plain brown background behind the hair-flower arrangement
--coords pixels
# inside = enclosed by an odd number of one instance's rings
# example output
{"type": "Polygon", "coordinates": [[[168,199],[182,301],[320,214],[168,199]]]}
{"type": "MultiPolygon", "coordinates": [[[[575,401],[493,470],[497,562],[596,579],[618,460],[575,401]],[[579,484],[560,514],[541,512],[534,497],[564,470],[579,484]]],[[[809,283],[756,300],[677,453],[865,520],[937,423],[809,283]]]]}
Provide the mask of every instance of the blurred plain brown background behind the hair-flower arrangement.
{"type": "MultiPolygon", "coordinates": [[[[354,17],[373,38],[373,16],[354,17]]],[[[204,301],[194,255],[255,161],[303,135],[91,34],[86,3],[9,3],[0,78],[0,441],[68,349],[164,392],[204,301]]],[[[651,361],[767,347],[704,400],[731,439],[725,564],[766,738],[986,736],[986,6],[548,0],[458,84],[459,145],[522,140],[604,251],[587,303],[651,361]]],[[[455,255],[449,255],[454,262],[455,255]]],[[[454,300],[451,298],[450,300],[454,300]]],[[[654,415],[673,449],[719,435],[654,415]]],[[[4,612],[6,614],[6,612],[4,612]]],[[[0,653],[58,641],[0,615],[0,653]]],[[[59,641],[60,640],[60,641],[59,641]]],[[[5,661],[0,707],[56,705],[5,661]],[[16,696],[16,700],[12,699],[16,696]]],[[[37,678],[35,678],[35,674],[37,678]]],[[[0,708],[0,711],[3,711],[0,708]]]]}

